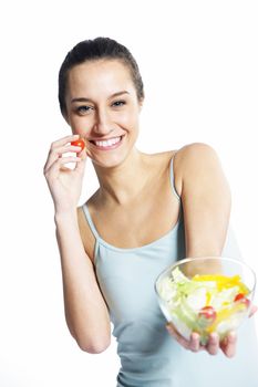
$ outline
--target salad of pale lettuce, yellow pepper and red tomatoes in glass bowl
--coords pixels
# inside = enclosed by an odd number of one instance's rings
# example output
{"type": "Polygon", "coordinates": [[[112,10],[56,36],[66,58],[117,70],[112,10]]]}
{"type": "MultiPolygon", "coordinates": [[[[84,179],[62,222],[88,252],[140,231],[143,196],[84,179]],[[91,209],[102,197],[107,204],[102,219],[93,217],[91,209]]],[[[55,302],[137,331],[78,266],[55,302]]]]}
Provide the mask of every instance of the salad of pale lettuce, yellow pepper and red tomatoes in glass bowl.
{"type": "Polygon", "coordinates": [[[177,331],[187,339],[193,331],[199,333],[203,345],[211,332],[223,339],[238,327],[250,305],[250,291],[240,275],[196,274],[188,279],[177,266],[158,282],[157,292],[177,331]]]}

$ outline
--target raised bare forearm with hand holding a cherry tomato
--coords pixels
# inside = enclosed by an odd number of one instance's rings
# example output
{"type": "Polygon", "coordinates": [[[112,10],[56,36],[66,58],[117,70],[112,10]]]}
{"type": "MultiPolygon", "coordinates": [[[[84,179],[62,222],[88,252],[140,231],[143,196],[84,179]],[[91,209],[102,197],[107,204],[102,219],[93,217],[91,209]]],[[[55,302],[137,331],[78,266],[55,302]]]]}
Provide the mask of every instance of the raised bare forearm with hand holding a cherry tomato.
{"type": "Polygon", "coordinates": [[[85,170],[86,148],[82,150],[72,145],[78,138],[78,135],[71,135],[53,142],[43,172],[54,203],[66,323],[80,348],[95,354],[110,345],[111,326],[107,307],[79,229],[76,206],[85,170]],[[76,156],[65,157],[68,151],[76,153],[76,156]],[[74,163],[74,169],[65,167],[70,161],[74,163]]]}

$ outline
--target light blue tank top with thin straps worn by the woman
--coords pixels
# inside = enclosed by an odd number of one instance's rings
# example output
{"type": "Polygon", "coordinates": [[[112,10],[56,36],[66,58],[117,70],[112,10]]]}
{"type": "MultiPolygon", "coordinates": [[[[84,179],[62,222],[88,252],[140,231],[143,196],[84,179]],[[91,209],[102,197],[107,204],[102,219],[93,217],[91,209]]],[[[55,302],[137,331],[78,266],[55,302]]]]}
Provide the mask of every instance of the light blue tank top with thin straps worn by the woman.
{"type": "MultiPolygon", "coordinates": [[[[172,195],[180,201],[174,185],[173,158],[171,184],[172,195]]],[[[82,208],[95,237],[96,276],[117,341],[121,368],[116,387],[258,387],[254,318],[245,321],[239,328],[237,355],[233,358],[221,352],[211,356],[186,351],[165,328],[154,282],[165,268],[185,258],[182,203],[177,223],[168,233],[134,249],[116,248],[103,240],[86,205],[82,208]]],[[[221,257],[240,259],[230,226],[221,257]]]]}

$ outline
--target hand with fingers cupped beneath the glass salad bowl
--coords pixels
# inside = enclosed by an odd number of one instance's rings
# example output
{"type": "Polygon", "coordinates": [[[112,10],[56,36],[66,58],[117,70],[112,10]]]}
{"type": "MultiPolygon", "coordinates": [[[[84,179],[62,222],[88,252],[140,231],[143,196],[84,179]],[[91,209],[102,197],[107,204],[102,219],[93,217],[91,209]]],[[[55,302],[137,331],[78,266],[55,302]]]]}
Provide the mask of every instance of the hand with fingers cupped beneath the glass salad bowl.
{"type": "MultiPolygon", "coordinates": [[[[251,305],[249,317],[251,317],[257,311],[258,307],[256,305],[251,305]]],[[[206,351],[209,355],[217,355],[219,349],[221,349],[227,357],[233,357],[236,354],[237,334],[235,331],[229,332],[229,334],[221,342],[219,342],[218,334],[214,332],[209,335],[208,343],[206,345],[202,345],[199,343],[199,334],[196,332],[193,332],[190,339],[187,341],[176,331],[172,323],[166,324],[166,328],[172,337],[177,341],[177,343],[192,352],[206,351]]]]}

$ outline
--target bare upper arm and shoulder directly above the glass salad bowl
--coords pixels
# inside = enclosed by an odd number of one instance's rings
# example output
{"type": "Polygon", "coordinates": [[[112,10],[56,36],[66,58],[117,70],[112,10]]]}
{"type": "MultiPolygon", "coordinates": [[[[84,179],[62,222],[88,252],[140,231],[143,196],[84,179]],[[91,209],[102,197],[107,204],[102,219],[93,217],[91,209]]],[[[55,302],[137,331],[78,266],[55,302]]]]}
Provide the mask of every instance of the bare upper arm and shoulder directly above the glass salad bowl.
{"type": "Polygon", "coordinates": [[[192,144],[178,154],[186,257],[220,257],[230,216],[230,189],[216,151],[192,144]]]}

